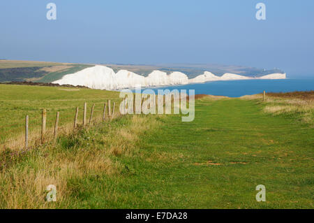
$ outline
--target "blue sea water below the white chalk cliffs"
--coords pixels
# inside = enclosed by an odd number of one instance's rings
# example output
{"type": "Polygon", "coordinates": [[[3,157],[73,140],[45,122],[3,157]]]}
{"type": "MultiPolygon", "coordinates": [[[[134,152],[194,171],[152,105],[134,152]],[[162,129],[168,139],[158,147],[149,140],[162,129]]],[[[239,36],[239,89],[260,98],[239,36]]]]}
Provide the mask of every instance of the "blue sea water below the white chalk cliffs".
{"type": "MultiPolygon", "coordinates": [[[[144,88],[147,89],[147,88],[144,88]]],[[[158,89],[195,89],[195,94],[212,94],[238,97],[248,94],[266,92],[294,92],[314,90],[314,79],[283,79],[283,80],[225,80],[190,85],[174,85],[149,87],[156,93],[158,89]]],[[[188,93],[188,91],[187,91],[188,93]]]]}

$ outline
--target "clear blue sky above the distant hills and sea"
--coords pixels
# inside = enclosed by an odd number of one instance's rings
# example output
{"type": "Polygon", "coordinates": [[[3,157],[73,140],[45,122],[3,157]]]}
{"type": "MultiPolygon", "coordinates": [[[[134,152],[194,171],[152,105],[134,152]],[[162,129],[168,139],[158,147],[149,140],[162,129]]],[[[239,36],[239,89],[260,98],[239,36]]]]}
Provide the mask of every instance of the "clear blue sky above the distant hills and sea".
{"type": "Polygon", "coordinates": [[[0,1],[0,27],[6,59],[234,64],[314,76],[313,0],[10,0],[0,1]],[[258,2],[267,20],[255,19],[258,2]]]}

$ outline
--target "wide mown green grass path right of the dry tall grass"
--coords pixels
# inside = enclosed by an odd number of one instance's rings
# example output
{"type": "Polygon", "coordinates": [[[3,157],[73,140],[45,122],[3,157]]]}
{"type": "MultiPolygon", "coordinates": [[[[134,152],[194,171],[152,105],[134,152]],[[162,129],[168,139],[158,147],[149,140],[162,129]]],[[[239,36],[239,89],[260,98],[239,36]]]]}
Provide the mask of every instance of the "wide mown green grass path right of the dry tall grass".
{"type": "Polygon", "coordinates": [[[241,99],[202,99],[194,122],[159,121],[133,156],[119,157],[128,174],[76,182],[84,208],[313,208],[306,124],[241,99]],[[255,200],[257,185],[267,202],[255,200]]]}

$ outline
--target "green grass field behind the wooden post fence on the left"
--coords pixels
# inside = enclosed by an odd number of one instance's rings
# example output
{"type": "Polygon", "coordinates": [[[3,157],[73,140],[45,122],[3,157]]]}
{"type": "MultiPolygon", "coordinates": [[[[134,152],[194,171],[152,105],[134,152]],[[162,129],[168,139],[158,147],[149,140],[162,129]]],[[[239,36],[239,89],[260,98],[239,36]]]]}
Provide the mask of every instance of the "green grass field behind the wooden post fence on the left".
{"type": "Polygon", "coordinates": [[[0,85],[0,92],[0,145],[24,132],[26,115],[29,115],[30,131],[38,130],[43,108],[47,110],[47,128],[50,128],[57,111],[60,112],[60,124],[63,125],[73,122],[75,109],[79,106],[79,120],[82,122],[84,102],[87,102],[88,114],[91,104],[96,104],[96,117],[103,113],[103,104],[107,99],[119,100],[119,92],[73,87],[0,85]]]}

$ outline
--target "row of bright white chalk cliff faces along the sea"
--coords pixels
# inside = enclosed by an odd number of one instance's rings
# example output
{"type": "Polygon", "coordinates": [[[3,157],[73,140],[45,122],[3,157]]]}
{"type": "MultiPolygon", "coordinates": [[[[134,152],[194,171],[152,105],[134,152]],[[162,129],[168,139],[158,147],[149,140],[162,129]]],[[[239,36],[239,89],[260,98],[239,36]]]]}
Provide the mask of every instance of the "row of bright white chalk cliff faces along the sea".
{"type": "Polygon", "coordinates": [[[167,86],[167,85],[186,85],[188,83],[207,82],[214,80],[245,80],[245,79],[285,79],[285,73],[273,73],[264,75],[260,78],[249,78],[234,73],[225,73],[221,77],[214,73],[205,71],[204,74],[196,78],[188,79],[188,76],[181,72],[173,72],[167,75],[162,71],[153,71],[147,77],[136,73],[121,70],[117,73],[106,66],[93,66],[77,73],[64,75],[60,80],[53,83],[59,85],[82,85],[93,89],[124,89],[136,86],[167,86]]]}

